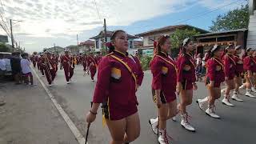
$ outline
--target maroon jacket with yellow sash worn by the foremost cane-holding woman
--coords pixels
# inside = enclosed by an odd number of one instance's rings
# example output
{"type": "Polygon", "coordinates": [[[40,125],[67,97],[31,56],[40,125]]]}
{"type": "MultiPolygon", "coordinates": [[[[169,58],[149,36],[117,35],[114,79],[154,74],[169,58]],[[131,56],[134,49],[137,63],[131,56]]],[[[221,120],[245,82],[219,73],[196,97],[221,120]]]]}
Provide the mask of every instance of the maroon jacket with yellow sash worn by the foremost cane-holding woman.
{"type": "Polygon", "coordinates": [[[102,58],[93,102],[103,103],[105,118],[120,120],[138,111],[135,95],[137,69],[138,66],[128,54],[116,50],[102,58]]]}

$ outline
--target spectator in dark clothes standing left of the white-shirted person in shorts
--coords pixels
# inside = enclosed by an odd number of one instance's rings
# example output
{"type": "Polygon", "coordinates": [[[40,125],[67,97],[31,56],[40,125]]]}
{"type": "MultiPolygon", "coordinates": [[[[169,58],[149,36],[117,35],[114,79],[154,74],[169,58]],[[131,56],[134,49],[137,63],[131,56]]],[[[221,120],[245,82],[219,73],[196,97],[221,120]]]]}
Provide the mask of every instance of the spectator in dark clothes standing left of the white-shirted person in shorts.
{"type": "Polygon", "coordinates": [[[22,68],[21,68],[21,58],[20,58],[19,52],[12,53],[12,58],[10,59],[10,65],[11,65],[11,70],[14,75],[16,84],[21,84],[22,68]]]}

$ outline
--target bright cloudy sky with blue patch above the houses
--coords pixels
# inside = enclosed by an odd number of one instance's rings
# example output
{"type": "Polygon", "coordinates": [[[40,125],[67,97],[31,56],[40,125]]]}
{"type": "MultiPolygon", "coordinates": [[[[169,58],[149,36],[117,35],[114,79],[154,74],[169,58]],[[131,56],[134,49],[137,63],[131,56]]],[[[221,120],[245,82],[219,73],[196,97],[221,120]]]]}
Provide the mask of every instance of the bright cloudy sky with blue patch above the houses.
{"type": "MultiPolygon", "coordinates": [[[[0,19],[13,21],[16,42],[26,51],[77,45],[103,30],[139,34],[163,26],[187,24],[209,30],[218,14],[246,0],[0,0],[0,19]],[[17,22],[19,20],[22,22],[17,22]]],[[[4,25],[5,24],[5,25],[4,25]]],[[[0,27],[0,34],[6,34],[0,27]]],[[[10,38],[9,38],[10,43],[10,38]]]]}

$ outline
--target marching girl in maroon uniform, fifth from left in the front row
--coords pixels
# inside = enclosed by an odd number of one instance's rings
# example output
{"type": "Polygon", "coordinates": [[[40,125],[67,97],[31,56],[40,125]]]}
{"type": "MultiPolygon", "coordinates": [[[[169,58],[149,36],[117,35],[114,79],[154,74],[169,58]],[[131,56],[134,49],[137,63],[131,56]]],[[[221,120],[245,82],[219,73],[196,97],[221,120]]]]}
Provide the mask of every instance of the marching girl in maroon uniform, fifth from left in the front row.
{"type": "Polygon", "coordinates": [[[224,98],[222,99],[222,103],[226,106],[234,106],[232,103],[230,103],[230,90],[234,90],[234,76],[236,68],[233,44],[230,44],[226,47],[222,60],[224,62],[224,73],[226,81],[226,89],[222,90],[225,93],[224,98]]]}

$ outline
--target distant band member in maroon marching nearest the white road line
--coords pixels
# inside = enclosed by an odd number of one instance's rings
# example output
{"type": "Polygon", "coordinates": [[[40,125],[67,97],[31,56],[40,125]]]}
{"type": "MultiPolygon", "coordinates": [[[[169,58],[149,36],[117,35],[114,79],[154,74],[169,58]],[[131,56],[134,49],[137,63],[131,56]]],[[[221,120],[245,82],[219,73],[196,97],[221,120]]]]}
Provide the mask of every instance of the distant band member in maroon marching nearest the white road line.
{"type": "Polygon", "coordinates": [[[43,56],[42,66],[46,74],[47,82],[49,86],[52,86],[56,70],[54,69],[54,59],[51,58],[50,51],[48,50],[46,50],[46,54],[43,56]]]}

